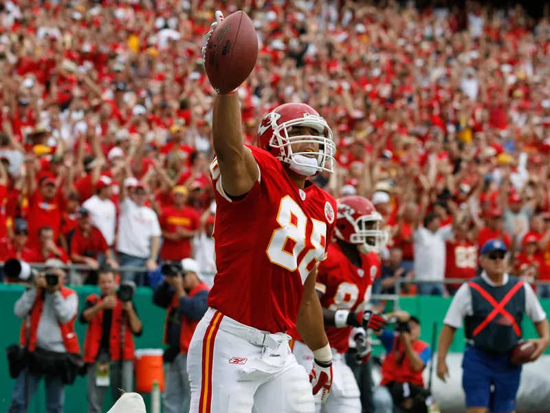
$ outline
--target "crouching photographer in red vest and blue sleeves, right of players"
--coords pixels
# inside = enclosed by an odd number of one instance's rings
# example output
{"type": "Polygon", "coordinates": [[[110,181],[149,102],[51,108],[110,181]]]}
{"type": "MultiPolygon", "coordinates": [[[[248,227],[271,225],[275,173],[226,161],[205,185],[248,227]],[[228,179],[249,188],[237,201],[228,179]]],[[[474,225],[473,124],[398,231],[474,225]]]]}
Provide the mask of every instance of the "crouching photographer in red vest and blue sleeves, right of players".
{"type": "Polygon", "coordinates": [[[395,331],[375,332],[386,348],[382,381],[374,392],[375,413],[398,411],[426,413],[430,392],[424,389],[422,370],[431,357],[428,343],[419,340],[420,320],[406,311],[396,311],[395,331]]]}

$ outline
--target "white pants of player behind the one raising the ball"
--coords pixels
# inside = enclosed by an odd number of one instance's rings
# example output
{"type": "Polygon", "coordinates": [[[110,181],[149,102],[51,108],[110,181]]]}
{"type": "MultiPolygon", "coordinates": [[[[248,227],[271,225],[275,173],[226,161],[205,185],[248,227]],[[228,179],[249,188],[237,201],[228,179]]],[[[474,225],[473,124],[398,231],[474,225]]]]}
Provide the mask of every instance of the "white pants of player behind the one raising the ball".
{"type": "MultiPolygon", "coordinates": [[[[314,354],[301,341],[294,340],[292,352],[298,364],[311,371],[314,354]]],[[[329,397],[321,403],[320,392],[315,397],[316,413],[361,413],[359,386],[351,368],[346,364],[346,355],[332,352],[332,386],[329,397]]]]}

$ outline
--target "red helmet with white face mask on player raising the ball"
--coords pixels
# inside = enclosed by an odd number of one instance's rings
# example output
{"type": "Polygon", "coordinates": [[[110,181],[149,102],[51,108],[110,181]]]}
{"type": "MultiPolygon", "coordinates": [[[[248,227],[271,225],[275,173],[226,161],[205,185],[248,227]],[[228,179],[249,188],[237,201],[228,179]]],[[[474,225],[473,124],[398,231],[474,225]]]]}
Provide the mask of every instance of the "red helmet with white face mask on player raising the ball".
{"type": "Polygon", "coordinates": [[[313,176],[321,171],[332,173],[336,163],[336,145],[325,119],[304,103],[286,103],[267,114],[258,129],[258,146],[291,166],[298,173],[313,176]],[[319,135],[289,136],[296,127],[309,127],[319,135]],[[317,144],[317,151],[294,152],[292,145],[317,144]],[[277,152],[278,149],[278,152],[277,152]],[[313,158],[312,158],[313,156],[313,158]],[[316,162],[308,162],[315,159],[316,162]]]}

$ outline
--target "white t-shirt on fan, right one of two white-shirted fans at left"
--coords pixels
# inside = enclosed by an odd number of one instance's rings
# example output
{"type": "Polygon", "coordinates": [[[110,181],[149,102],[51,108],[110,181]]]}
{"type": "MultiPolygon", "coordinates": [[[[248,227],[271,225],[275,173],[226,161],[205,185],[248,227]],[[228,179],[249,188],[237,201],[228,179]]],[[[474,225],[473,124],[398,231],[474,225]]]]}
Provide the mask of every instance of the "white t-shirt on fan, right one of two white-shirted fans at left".
{"type": "Polygon", "coordinates": [[[157,214],[149,207],[139,207],[126,198],[120,203],[117,251],[133,257],[151,256],[151,237],[160,237],[157,214]]]}

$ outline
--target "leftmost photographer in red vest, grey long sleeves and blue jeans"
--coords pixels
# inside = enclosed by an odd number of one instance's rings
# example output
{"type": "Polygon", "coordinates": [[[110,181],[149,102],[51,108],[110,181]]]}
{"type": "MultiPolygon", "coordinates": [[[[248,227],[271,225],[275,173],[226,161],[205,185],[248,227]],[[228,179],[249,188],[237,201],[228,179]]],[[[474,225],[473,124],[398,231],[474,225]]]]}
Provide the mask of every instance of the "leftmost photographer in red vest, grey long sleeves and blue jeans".
{"type": "Polygon", "coordinates": [[[14,313],[23,319],[19,345],[7,350],[10,375],[17,378],[8,413],[23,413],[42,377],[46,410],[62,413],[65,385],[80,372],[80,345],[74,331],[78,295],[63,285],[63,262],[50,259],[43,273],[33,273],[32,286],[16,301],[14,313]]]}

